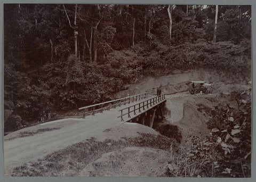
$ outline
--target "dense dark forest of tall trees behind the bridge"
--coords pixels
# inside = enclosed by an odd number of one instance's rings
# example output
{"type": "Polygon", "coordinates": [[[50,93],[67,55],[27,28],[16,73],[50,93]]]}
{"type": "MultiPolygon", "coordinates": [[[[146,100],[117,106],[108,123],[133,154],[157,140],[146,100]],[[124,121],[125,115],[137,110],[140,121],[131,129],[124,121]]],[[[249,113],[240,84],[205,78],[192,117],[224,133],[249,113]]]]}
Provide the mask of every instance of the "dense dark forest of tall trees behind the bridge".
{"type": "Polygon", "coordinates": [[[12,128],[190,69],[251,80],[251,6],[4,4],[4,121],[12,128]]]}

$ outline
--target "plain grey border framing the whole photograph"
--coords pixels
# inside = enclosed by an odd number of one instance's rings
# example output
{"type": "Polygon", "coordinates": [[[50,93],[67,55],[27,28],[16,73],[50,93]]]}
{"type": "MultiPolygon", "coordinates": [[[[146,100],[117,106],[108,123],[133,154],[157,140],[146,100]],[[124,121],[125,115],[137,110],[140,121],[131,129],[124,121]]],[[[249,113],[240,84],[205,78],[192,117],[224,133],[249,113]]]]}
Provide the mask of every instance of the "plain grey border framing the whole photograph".
{"type": "Polygon", "coordinates": [[[252,21],[251,21],[251,28],[252,28],[252,111],[254,111],[254,104],[255,100],[255,92],[254,84],[256,84],[255,73],[253,70],[256,70],[256,1],[255,0],[162,0],[162,1],[151,1],[151,0],[74,0],[74,1],[67,1],[67,0],[34,0],[34,1],[26,1],[26,0],[0,0],[0,34],[1,34],[1,43],[0,43],[0,56],[2,58],[1,62],[1,69],[0,69],[0,90],[1,90],[1,104],[0,104],[0,181],[9,182],[9,181],[256,181],[256,152],[255,152],[255,125],[253,121],[255,120],[256,112],[252,114],[252,158],[251,158],[251,178],[171,178],[171,177],[4,177],[4,153],[3,153],[3,142],[4,142],[4,27],[3,27],[3,5],[12,4],[12,3],[32,3],[32,4],[205,4],[205,5],[251,5],[252,8],[252,21]],[[254,54],[253,54],[254,53],[254,54]]]}

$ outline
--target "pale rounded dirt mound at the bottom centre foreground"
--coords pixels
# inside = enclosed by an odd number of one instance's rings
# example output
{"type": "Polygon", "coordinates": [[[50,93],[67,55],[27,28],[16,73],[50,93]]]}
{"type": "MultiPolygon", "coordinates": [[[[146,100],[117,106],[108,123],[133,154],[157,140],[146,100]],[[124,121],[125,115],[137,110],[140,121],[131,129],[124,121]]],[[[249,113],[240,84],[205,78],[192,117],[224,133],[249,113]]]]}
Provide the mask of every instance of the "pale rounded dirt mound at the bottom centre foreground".
{"type": "Polygon", "coordinates": [[[169,152],[147,147],[126,147],[105,153],[88,164],[79,176],[165,176],[169,152]]]}

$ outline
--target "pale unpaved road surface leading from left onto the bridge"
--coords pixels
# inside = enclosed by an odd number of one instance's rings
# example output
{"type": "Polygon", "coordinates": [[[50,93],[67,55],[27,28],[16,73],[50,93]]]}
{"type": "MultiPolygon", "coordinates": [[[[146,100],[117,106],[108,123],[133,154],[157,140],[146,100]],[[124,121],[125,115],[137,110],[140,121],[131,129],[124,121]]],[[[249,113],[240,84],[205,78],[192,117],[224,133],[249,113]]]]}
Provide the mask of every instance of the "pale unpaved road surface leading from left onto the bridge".
{"type": "MultiPolygon", "coordinates": [[[[85,119],[67,119],[59,122],[43,123],[44,128],[60,127],[60,129],[46,131],[33,136],[11,139],[10,134],[6,135],[4,137],[5,176],[10,176],[14,167],[43,158],[47,154],[65,148],[68,145],[82,142],[87,138],[97,137],[105,129],[121,125],[120,118],[117,118],[120,114],[118,110],[127,106],[128,104],[116,109],[110,109],[109,111],[104,111],[103,114],[89,115],[85,119]],[[66,122],[66,127],[63,122],[66,122]],[[72,123],[71,125],[70,122],[72,123]]],[[[33,126],[34,130],[38,128],[42,128],[42,125],[33,126]]],[[[29,130],[29,128],[23,130],[29,130]]],[[[21,131],[19,130],[15,133],[21,131]]]]}

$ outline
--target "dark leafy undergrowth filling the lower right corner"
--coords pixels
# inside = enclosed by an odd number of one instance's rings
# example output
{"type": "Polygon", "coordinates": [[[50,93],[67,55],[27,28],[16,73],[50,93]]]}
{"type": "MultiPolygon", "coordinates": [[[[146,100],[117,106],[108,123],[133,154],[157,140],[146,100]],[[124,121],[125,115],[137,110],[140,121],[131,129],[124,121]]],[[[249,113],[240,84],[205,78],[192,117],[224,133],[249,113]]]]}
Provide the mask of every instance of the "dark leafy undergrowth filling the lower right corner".
{"type": "MultiPolygon", "coordinates": [[[[231,93],[238,107],[216,106],[206,139],[190,136],[174,153],[166,173],[170,177],[251,177],[251,91],[231,93]]],[[[202,111],[202,109],[198,109],[202,111]]]]}

